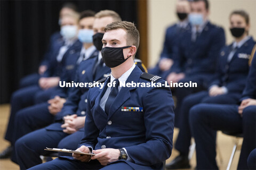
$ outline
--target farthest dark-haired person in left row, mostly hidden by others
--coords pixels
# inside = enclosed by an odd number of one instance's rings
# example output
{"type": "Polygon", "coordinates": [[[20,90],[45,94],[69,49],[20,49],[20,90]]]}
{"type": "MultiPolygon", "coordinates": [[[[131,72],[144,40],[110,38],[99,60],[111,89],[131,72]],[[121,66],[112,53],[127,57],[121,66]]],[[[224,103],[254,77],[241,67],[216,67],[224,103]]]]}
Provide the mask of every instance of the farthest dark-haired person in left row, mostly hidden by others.
{"type": "MultiPolygon", "coordinates": [[[[59,24],[61,25],[61,19],[63,18],[63,16],[70,15],[70,14],[73,14],[76,12],[77,12],[77,7],[74,4],[72,4],[72,3],[63,4],[63,6],[61,7],[61,10],[60,10],[59,24]]],[[[61,42],[62,41],[61,39],[62,39],[62,36],[60,35],[59,31],[53,33],[53,35],[50,38],[49,48],[44,55],[43,61],[40,63],[40,65],[38,67],[38,73],[29,74],[25,78],[22,78],[20,80],[19,88],[24,88],[27,86],[38,84],[40,75],[42,75],[47,70],[47,67],[49,65],[49,62],[50,62],[49,57],[52,56],[51,52],[50,52],[52,44],[54,44],[55,42],[61,42]]],[[[53,57],[55,57],[55,56],[53,56],[53,57]]]]}

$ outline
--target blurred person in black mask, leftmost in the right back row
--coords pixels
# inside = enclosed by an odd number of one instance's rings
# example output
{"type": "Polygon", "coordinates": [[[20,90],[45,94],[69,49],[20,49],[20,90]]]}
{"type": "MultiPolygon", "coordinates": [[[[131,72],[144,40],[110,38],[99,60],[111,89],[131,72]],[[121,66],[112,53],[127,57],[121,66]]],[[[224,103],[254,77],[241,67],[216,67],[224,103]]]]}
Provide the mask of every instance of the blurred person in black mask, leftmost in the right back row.
{"type": "Polygon", "coordinates": [[[177,58],[174,56],[174,50],[177,47],[177,41],[181,33],[189,29],[188,14],[190,11],[189,2],[187,0],[178,0],[176,5],[176,12],[179,19],[178,23],[175,23],[166,29],[164,48],[159,58],[157,65],[149,69],[150,74],[156,74],[163,79],[166,78],[167,71],[171,69],[173,63],[177,58]]]}

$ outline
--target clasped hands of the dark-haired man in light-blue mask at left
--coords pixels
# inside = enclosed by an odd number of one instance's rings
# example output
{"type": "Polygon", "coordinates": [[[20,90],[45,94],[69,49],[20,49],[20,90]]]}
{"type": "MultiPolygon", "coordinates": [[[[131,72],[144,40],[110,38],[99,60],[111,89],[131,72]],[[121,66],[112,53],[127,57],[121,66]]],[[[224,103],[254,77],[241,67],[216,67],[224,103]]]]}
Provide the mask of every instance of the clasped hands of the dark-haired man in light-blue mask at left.
{"type": "Polygon", "coordinates": [[[63,104],[66,103],[66,99],[55,96],[53,99],[48,100],[48,103],[50,104],[50,106],[48,106],[49,112],[52,115],[56,115],[61,111],[63,104]]]}

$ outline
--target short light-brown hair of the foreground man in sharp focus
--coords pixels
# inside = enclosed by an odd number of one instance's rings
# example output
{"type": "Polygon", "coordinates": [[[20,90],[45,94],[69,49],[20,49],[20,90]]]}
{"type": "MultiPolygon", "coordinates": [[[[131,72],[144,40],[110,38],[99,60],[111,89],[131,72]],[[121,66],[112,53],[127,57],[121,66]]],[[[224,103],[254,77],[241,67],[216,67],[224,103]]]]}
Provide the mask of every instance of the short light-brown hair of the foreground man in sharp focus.
{"type": "Polygon", "coordinates": [[[117,29],[125,30],[127,46],[133,45],[138,49],[140,44],[140,33],[138,29],[135,27],[134,23],[127,21],[112,22],[105,27],[105,32],[108,30],[117,29]]]}

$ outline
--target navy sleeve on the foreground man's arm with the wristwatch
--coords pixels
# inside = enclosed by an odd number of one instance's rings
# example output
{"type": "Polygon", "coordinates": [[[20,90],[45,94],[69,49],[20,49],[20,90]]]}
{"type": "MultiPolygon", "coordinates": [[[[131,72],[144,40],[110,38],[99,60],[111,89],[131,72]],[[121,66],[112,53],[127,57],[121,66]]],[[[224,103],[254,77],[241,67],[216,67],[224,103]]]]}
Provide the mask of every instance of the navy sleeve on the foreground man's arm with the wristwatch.
{"type": "Polygon", "coordinates": [[[125,147],[135,164],[154,165],[171,156],[174,102],[169,88],[151,89],[143,98],[146,143],[125,147]]]}

